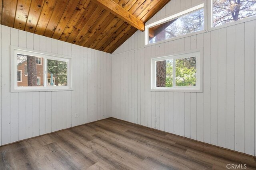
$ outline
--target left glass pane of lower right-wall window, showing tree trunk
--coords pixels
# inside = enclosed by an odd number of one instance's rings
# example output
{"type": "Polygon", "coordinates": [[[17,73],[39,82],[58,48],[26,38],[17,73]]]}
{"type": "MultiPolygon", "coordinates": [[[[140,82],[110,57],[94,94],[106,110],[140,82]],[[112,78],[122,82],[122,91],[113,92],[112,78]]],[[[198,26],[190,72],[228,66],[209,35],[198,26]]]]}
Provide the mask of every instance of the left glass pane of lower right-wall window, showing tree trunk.
{"type": "Polygon", "coordinates": [[[156,62],[156,87],[172,87],[172,59],[156,62]]]}

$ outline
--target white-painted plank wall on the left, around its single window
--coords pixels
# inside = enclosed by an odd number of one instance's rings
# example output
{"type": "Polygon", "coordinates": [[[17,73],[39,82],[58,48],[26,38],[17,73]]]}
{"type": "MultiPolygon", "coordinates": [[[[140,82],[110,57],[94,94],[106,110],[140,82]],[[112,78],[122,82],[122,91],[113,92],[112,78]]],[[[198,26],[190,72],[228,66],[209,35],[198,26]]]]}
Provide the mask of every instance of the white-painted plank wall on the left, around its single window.
{"type": "Polygon", "coordinates": [[[3,25],[0,39],[0,145],[110,117],[110,54],[3,25]],[[10,93],[10,45],[72,57],[74,91],[10,93]]]}

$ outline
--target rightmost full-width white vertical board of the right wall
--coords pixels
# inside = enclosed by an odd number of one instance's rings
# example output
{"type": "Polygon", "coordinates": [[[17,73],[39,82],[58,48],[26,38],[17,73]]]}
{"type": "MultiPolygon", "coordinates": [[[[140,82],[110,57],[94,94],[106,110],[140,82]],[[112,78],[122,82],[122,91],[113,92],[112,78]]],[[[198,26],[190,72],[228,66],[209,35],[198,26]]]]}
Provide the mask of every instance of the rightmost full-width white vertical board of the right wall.
{"type": "Polygon", "coordinates": [[[254,154],[255,21],[245,23],[244,44],[244,152],[254,154]]]}

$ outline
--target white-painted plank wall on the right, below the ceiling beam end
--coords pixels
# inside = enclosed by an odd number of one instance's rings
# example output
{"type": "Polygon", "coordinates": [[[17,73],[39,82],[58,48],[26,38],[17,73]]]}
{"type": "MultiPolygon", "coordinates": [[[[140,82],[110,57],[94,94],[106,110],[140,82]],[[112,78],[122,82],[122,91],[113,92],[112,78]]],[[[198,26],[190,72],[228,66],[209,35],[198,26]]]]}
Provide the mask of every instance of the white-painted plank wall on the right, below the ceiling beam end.
{"type": "MultiPolygon", "coordinates": [[[[149,22],[196,3],[171,0],[149,22]]],[[[137,31],[112,54],[112,117],[256,155],[255,24],[148,47],[137,31]],[[150,91],[153,57],[202,47],[203,93],[150,91]]]]}

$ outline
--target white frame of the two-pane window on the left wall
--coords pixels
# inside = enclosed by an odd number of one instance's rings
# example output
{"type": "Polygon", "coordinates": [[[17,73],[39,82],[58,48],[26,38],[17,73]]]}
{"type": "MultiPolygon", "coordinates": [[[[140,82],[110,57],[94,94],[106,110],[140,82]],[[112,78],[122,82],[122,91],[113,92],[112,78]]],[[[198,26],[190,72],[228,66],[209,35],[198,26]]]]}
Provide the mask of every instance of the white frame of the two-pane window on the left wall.
{"type": "Polygon", "coordinates": [[[11,92],[40,92],[40,91],[70,91],[73,90],[73,64],[72,58],[64,55],[52,54],[22,47],[10,47],[11,52],[11,92]],[[43,86],[18,87],[17,84],[17,54],[30,55],[44,58],[44,84],[43,86]],[[68,86],[48,86],[47,80],[47,59],[64,61],[68,63],[68,86]],[[15,76],[16,75],[16,76],[15,76]]]}

